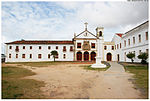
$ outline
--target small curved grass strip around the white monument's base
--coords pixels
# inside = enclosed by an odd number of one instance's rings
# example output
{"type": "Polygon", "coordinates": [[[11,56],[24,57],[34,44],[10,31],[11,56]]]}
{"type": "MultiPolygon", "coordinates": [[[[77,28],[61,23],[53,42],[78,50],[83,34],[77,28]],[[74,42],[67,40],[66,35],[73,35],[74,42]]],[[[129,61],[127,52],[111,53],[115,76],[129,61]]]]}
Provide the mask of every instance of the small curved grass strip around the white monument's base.
{"type": "Polygon", "coordinates": [[[106,71],[110,67],[110,64],[108,62],[102,62],[102,63],[104,63],[107,67],[106,68],[92,68],[91,65],[85,65],[83,67],[86,70],[106,71]]]}

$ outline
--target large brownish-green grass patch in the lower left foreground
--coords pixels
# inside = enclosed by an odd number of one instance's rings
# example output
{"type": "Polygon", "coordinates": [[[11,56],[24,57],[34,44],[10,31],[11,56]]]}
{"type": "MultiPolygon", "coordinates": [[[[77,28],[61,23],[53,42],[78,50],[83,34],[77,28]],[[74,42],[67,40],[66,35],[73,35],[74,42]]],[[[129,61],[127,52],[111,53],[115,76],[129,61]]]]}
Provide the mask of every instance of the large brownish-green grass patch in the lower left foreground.
{"type": "Polygon", "coordinates": [[[23,79],[35,73],[25,68],[5,66],[2,67],[2,98],[21,99],[21,98],[43,98],[40,87],[44,82],[23,79]]]}

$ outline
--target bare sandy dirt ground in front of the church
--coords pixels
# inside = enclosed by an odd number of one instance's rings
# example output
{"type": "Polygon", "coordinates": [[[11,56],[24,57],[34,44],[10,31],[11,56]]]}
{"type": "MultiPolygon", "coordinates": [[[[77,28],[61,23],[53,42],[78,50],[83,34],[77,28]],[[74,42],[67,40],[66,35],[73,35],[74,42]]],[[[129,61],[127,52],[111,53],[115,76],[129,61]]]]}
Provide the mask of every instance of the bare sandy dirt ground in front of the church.
{"type": "MultiPolygon", "coordinates": [[[[26,77],[44,81],[41,90],[51,99],[137,99],[142,98],[126,72],[86,70],[89,64],[59,64],[28,68],[36,75],[26,77]]],[[[110,70],[109,70],[110,71],[110,70]]]]}

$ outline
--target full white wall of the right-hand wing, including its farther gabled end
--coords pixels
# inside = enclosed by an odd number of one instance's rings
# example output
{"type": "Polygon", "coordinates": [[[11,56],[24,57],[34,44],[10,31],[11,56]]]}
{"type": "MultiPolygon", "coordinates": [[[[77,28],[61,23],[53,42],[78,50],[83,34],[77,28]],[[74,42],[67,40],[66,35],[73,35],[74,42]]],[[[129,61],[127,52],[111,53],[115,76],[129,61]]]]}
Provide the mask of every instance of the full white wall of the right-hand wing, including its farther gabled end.
{"type": "Polygon", "coordinates": [[[129,52],[135,51],[134,62],[140,62],[141,60],[137,58],[140,54],[139,50],[141,50],[141,52],[146,52],[146,49],[149,49],[149,43],[148,40],[146,40],[146,32],[148,32],[148,23],[127,32],[122,36],[122,38],[118,35],[114,35],[112,42],[116,45],[116,50],[114,52],[115,60],[117,61],[117,54],[120,54],[120,61],[131,62],[131,60],[126,57],[125,53],[128,54],[129,52]],[[139,42],[139,34],[141,35],[141,42],[139,42]],[[133,37],[135,37],[135,44],[133,44],[133,37]],[[128,39],[130,39],[130,45],[128,45],[128,39]],[[126,40],[126,47],[124,46],[124,40],[126,40]],[[117,49],[117,44],[119,44],[119,49],[117,49]]]}

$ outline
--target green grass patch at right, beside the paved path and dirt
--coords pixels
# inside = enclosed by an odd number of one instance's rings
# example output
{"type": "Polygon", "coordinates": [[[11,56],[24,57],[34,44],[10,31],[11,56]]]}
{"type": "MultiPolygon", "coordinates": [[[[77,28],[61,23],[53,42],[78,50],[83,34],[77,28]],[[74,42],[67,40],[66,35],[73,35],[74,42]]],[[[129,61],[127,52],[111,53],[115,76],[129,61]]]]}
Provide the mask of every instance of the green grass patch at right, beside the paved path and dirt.
{"type": "Polygon", "coordinates": [[[148,98],[148,66],[125,64],[124,67],[126,71],[135,74],[132,80],[135,88],[141,91],[143,98],[148,98]]]}

